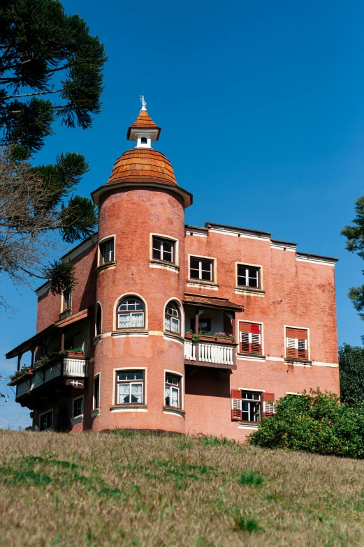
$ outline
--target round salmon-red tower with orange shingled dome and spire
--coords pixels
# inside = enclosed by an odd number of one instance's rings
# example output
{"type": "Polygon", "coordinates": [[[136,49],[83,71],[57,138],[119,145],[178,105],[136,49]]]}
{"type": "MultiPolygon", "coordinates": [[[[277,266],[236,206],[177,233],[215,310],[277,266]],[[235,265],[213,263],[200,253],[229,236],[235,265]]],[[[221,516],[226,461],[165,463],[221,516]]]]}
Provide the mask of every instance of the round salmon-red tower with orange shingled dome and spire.
{"type": "Polygon", "coordinates": [[[126,137],[136,147],[92,194],[99,206],[94,430],[184,433],[184,209],[192,196],[152,149],[160,132],[143,97],[126,137]]]}

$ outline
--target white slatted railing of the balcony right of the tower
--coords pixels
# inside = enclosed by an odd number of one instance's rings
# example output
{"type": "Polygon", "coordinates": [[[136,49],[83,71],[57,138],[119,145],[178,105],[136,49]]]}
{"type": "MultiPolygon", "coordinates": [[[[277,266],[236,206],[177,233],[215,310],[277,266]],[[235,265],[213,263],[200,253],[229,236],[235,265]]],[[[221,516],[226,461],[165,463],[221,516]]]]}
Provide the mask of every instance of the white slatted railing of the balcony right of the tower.
{"type": "Polygon", "coordinates": [[[208,343],[199,341],[197,343],[191,340],[184,340],[184,359],[196,364],[205,364],[205,366],[235,366],[235,344],[231,343],[208,343]]]}

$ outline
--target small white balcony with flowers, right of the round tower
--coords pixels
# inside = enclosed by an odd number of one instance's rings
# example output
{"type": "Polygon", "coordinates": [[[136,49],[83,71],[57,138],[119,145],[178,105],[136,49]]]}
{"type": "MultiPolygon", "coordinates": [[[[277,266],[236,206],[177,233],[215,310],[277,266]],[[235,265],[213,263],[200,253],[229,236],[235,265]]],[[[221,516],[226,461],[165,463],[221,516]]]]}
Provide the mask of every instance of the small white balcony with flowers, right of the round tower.
{"type": "Polygon", "coordinates": [[[184,363],[187,365],[210,366],[214,368],[236,368],[233,340],[223,340],[215,336],[200,336],[193,342],[191,335],[184,340],[184,363]]]}

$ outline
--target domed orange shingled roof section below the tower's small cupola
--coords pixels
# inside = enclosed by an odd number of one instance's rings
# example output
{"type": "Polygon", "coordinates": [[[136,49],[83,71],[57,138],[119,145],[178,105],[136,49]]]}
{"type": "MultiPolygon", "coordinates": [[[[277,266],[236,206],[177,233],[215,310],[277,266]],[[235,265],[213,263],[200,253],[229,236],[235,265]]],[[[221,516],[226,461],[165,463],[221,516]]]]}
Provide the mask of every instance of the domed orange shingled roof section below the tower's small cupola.
{"type": "Polygon", "coordinates": [[[108,184],[117,182],[159,182],[178,186],[170,161],[152,148],[133,148],[124,152],[115,162],[108,180],[108,184]]]}

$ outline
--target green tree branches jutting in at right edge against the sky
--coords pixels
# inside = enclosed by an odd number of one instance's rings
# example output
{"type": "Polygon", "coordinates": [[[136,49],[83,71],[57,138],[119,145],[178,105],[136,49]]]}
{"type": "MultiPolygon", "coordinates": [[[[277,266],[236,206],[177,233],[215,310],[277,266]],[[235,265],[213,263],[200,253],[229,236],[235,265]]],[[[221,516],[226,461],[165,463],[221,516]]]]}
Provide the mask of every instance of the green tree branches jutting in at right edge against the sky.
{"type": "MultiPolygon", "coordinates": [[[[341,234],[347,238],[347,250],[358,253],[364,259],[364,195],[356,200],[355,211],[356,217],[352,220],[354,226],[345,226],[341,234]]],[[[350,287],[348,296],[358,315],[364,320],[364,285],[350,287]]]]}

